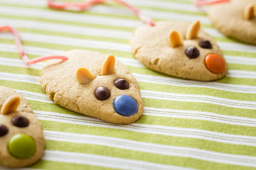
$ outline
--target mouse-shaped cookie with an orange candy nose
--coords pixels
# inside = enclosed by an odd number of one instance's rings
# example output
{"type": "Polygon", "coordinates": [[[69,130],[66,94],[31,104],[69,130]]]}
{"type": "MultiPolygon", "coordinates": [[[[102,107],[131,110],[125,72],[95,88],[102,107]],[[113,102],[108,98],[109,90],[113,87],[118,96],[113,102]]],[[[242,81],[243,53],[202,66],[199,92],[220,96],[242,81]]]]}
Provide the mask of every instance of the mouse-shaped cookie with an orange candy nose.
{"type": "Polygon", "coordinates": [[[213,81],[225,76],[228,66],[215,40],[191,24],[163,21],[142,26],[132,35],[135,57],[149,69],[183,79],[213,81]]]}

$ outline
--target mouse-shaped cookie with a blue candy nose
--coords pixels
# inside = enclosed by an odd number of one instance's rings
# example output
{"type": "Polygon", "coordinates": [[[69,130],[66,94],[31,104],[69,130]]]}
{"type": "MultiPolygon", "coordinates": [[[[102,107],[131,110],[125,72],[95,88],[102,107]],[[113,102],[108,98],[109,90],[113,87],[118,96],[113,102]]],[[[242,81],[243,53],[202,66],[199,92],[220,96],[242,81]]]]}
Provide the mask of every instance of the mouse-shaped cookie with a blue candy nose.
{"type": "Polygon", "coordinates": [[[108,123],[133,123],[142,115],[139,84],[113,55],[71,50],[65,56],[67,61],[48,61],[41,72],[50,100],[108,123]]]}

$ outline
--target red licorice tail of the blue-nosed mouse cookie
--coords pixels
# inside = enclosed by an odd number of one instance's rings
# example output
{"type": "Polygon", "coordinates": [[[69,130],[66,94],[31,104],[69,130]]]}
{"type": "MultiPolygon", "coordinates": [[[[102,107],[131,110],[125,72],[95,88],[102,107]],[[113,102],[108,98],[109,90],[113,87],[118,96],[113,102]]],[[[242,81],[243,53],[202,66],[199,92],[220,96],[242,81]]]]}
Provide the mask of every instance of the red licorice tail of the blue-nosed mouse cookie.
{"type": "Polygon", "coordinates": [[[37,62],[43,62],[43,61],[46,61],[46,60],[52,60],[52,59],[60,59],[60,60],[63,60],[63,61],[68,60],[68,57],[65,57],[63,55],[43,56],[43,57],[35,58],[33,60],[29,60],[28,56],[24,52],[23,45],[21,43],[21,36],[18,34],[18,30],[16,30],[15,28],[12,28],[11,26],[1,26],[0,27],[0,32],[2,32],[4,30],[9,31],[14,35],[14,39],[15,39],[16,46],[18,48],[18,52],[20,53],[23,62],[27,65],[28,64],[35,64],[37,62]]]}

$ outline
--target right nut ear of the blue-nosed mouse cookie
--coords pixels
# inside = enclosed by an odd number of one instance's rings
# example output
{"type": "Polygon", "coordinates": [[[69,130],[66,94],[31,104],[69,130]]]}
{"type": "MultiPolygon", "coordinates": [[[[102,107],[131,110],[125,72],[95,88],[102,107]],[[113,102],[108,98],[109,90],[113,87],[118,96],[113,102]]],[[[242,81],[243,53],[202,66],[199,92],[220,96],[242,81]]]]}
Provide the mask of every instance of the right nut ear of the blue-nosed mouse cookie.
{"type": "Polygon", "coordinates": [[[109,55],[105,59],[105,61],[102,64],[102,70],[101,70],[101,75],[109,75],[109,74],[114,74],[114,63],[115,63],[115,58],[114,55],[109,55]]]}

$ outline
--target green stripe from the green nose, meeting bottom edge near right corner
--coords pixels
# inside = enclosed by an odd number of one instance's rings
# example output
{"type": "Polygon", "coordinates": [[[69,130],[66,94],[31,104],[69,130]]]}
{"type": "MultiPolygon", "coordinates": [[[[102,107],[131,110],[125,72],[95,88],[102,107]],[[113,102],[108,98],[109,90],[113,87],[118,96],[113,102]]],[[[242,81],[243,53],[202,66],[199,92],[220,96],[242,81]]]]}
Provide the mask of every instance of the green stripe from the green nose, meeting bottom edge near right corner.
{"type": "MultiPolygon", "coordinates": [[[[198,159],[191,159],[186,157],[171,157],[167,155],[159,155],[159,154],[148,154],[145,152],[137,152],[137,151],[130,151],[127,149],[116,149],[113,147],[104,147],[100,145],[86,145],[86,144],[77,144],[77,143],[70,143],[70,142],[55,142],[47,140],[46,144],[50,146],[50,149],[53,150],[62,150],[68,152],[82,152],[88,154],[100,154],[105,155],[108,157],[122,157],[124,159],[134,159],[138,161],[144,162],[153,162],[156,164],[166,164],[166,165],[174,165],[174,166],[184,166],[193,169],[208,169],[207,166],[211,168],[234,168],[238,169],[241,166],[230,166],[228,164],[218,164],[215,162],[206,162],[198,159]],[[72,147],[66,147],[66,146],[72,147]],[[72,149],[71,149],[72,148],[72,149]],[[102,152],[102,150],[106,152],[102,152]],[[122,154],[121,154],[122,153],[122,154]],[[186,163],[184,163],[186,162],[186,163]]],[[[246,168],[245,169],[250,169],[246,168]]]]}

